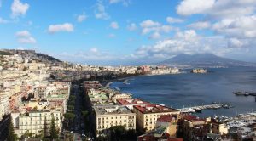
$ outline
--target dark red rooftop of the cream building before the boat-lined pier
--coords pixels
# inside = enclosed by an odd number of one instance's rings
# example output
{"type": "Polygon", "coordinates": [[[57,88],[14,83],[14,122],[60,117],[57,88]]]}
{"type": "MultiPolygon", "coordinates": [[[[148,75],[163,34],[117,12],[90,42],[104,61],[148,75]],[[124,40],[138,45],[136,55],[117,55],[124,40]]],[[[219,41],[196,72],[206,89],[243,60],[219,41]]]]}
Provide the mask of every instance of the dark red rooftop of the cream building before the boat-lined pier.
{"type": "Polygon", "coordinates": [[[172,109],[160,104],[147,104],[147,105],[135,105],[134,109],[139,110],[143,114],[148,113],[162,113],[162,112],[177,112],[178,110],[172,109]]]}

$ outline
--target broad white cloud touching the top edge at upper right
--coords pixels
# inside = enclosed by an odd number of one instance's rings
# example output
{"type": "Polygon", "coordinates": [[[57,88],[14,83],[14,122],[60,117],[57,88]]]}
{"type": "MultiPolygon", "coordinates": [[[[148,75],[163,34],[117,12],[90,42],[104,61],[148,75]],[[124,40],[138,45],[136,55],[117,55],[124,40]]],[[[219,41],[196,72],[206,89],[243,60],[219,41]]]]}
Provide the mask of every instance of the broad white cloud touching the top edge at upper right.
{"type": "Polygon", "coordinates": [[[254,0],[183,0],[177,5],[177,14],[207,14],[220,18],[236,18],[253,14],[256,9],[254,0]]]}

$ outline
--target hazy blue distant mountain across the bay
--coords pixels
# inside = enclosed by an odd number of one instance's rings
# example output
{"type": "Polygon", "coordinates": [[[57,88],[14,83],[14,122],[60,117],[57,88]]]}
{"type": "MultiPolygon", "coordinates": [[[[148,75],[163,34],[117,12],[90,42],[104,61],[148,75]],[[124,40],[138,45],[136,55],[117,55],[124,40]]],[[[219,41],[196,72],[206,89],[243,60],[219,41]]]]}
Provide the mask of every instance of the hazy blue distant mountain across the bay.
{"type": "Polygon", "coordinates": [[[179,54],[171,59],[166,59],[158,65],[177,67],[230,67],[230,66],[255,66],[253,63],[226,59],[214,54],[179,54]]]}

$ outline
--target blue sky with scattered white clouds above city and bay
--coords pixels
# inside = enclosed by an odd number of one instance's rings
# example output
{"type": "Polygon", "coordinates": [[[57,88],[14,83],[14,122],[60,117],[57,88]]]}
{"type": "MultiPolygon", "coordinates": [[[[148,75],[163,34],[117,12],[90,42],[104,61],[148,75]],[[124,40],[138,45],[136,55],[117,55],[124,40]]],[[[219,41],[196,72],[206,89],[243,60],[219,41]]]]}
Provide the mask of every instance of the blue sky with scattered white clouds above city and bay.
{"type": "Polygon", "coordinates": [[[256,62],[255,0],[0,0],[0,48],[88,65],[210,53],[256,62]]]}

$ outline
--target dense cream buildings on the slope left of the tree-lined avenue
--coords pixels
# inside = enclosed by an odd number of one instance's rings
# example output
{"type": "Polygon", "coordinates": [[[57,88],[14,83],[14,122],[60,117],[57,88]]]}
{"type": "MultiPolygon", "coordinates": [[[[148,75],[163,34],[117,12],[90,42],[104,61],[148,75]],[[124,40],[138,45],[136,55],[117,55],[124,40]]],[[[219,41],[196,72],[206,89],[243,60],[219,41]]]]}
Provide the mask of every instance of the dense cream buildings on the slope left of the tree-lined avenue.
{"type": "Polygon", "coordinates": [[[71,83],[51,80],[50,64],[29,56],[1,55],[0,62],[0,120],[11,117],[18,138],[49,135],[53,118],[61,131],[71,83]]]}

